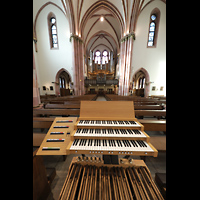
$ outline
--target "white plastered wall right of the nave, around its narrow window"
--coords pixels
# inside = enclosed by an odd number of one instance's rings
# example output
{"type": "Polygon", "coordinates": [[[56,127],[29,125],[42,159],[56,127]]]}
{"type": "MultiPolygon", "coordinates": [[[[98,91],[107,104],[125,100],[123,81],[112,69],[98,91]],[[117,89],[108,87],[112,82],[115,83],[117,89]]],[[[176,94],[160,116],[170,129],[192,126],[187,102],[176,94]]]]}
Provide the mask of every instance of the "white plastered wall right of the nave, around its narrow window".
{"type": "Polygon", "coordinates": [[[136,26],[136,40],[133,42],[131,80],[133,74],[140,68],[148,71],[150,81],[149,95],[166,95],[166,4],[153,1],[139,15],[136,26]],[[154,8],[160,10],[160,24],[156,48],[147,48],[150,13],[154,8]],[[152,91],[152,86],[156,90],[152,91]],[[163,86],[163,91],[160,87],[163,86]]]}

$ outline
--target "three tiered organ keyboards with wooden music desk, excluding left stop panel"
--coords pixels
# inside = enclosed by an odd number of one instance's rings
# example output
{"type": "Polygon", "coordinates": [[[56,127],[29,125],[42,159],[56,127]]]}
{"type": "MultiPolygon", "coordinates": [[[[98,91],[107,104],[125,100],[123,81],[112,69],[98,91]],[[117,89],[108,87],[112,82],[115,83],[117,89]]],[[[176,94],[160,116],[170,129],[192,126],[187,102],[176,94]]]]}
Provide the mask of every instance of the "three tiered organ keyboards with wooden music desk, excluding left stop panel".
{"type": "Polygon", "coordinates": [[[66,154],[140,155],[156,157],[131,101],[81,101],[79,120],[66,154]]]}

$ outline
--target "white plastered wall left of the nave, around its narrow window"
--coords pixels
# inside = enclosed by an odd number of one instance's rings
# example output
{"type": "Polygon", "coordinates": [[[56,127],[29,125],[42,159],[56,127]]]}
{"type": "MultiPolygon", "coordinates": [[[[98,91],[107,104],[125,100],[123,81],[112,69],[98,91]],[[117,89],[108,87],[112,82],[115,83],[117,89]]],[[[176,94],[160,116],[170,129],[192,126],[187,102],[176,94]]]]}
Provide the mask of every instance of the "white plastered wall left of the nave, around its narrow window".
{"type": "Polygon", "coordinates": [[[55,82],[56,74],[61,68],[66,69],[73,79],[72,44],[69,41],[69,22],[59,8],[49,4],[38,15],[36,33],[38,52],[35,52],[35,47],[33,48],[33,52],[36,61],[40,95],[44,95],[45,93],[55,94],[55,84],[52,82],[55,82]],[[55,14],[57,20],[58,49],[50,49],[47,23],[47,16],[50,12],[55,14]],[[42,86],[46,86],[47,88],[53,86],[54,90],[43,91],[42,86]]]}

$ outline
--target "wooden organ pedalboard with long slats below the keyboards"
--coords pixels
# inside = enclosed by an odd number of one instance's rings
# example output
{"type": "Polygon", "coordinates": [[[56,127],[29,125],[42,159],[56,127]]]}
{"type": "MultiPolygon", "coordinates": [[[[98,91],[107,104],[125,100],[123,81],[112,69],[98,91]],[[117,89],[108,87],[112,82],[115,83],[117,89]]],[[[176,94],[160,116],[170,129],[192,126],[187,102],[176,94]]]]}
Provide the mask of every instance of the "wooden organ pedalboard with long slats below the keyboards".
{"type": "Polygon", "coordinates": [[[74,157],[59,200],[164,199],[144,161],[119,159],[119,163],[74,157]]]}

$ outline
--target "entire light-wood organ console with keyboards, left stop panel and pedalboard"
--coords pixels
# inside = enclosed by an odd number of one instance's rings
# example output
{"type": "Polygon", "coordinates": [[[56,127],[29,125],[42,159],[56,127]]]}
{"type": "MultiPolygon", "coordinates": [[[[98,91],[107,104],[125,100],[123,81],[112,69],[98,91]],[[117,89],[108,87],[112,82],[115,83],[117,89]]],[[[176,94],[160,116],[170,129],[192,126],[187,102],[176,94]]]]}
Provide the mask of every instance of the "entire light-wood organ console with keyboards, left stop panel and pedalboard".
{"type": "Polygon", "coordinates": [[[132,101],[81,101],[78,120],[55,118],[37,155],[69,154],[59,200],[163,199],[144,161],[118,158],[158,155],[132,101]]]}

